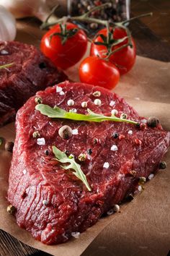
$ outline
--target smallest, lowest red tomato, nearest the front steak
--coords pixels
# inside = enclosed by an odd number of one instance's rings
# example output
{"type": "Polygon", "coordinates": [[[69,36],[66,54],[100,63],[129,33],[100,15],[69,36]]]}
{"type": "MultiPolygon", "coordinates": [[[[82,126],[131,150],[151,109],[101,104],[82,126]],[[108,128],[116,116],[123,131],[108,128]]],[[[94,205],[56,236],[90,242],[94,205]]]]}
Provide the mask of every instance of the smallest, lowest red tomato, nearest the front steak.
{"type": "Polygon", "coordinates": [[[81,62],[79,77],[81,82],[111,90],[119,82],[120,72],[111,62],[99,59],[97,56],[89,56],[81,62]]]}

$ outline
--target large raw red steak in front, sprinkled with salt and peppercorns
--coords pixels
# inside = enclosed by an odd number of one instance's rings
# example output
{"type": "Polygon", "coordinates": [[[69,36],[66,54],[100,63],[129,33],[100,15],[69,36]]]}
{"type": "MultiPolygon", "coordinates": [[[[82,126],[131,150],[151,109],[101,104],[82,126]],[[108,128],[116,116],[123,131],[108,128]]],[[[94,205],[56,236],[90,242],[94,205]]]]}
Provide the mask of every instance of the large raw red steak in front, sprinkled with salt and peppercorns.
{"type": "MultiPolygon", "coordinates": [[[[128,119],[146,121],[123,98],[92,85],[63,82],[37,95],[43,103],[67,111],[74,108],[77,113],[87,114],[86,109],[90,108],[109,114],[115,108],[117,116],[125,113],[128,119]],[[96,91],[101,95],[95,97],[96,91]],[[101,106],[94,104],[97,98],[101,106]],[[68,106],[70,99],[73,106],[68,106]],[[84,101],[87,107],[83,108],[84,101]]],[[[50,119],[35,106],[34,96],[17,113],[8,200],[17,209],[18,225],[45,244],[66,242],[75,232],[94,225],[102,214],[138,190],[141,176],[148,178],[158,171],[169,147],[170,134],[161,126],[141,129],[125,122],[50,119]],[[68,140],[58,135],[63,125],[73,129],[68,140]],[[37,138],[32,137],[35,131],[45,139],[45,145],[37,144],[37,138]],[[61,163],[53,160],[52,145],[73,154],[76,161],[80,153],[87,154],[86,160],[79,163],[91,192],[72,171],[64,170],[61,163]]]]}

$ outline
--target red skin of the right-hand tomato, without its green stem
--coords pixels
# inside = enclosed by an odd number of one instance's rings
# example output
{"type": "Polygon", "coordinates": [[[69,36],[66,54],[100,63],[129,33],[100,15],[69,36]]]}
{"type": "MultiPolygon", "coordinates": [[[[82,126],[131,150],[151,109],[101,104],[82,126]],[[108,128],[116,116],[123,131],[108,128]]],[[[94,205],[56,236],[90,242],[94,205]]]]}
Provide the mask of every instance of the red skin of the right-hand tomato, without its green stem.
{"type": "MultiPolygon", "coordinates": [[[[104,28],[100,30],[97,34],[102,34],[104,36],[107,36],[107,29],[104,28]]],[[[114,39],[120,39],[127,36],[127,33],[125,30],[123,30],[120,27],[116,27],[113,32],[113,38],[114,39]]],[[[102,38],[98,36],[94,42],[103,42],[102,38]]],[[[127,46],[125,48],[122,48],[122,50],[117,51],[115,54],[109,57],[109,61],[111,61],[113,64],[117,65],[117,68],[120,70],[120,74],[127,73],[135,64],[135,56],[136,56],[136,47],[135,47],[135,41],[132,38],[133,42],[133,48],[130,48],[130,46],[127,46]]],[[[125,45],[125,43],[128,43],[128,39],[123,41],[122,43],[119,43],[117,46],[112,47],[112,51],[120,48],[120,46],[125,45]]],[[[91,44],[91,56],[99,56],[101,58],[106,57],[107,53],[107,47],[106,46],[97,46],[94,43],[91,44]]]]}

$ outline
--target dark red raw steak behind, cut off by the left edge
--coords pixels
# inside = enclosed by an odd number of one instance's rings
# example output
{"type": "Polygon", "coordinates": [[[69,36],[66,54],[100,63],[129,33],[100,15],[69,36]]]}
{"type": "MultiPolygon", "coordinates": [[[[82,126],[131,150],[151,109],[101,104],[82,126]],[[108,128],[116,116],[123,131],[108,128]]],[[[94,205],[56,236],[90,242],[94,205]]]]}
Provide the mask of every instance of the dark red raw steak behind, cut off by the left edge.
{"type": "Polygon", "coordinates": [[[12,62],[12,67],[0,69],[0,126],[12,121],[37,90],[66,79],[35,46],[0,41],[0,65],[12,62]]]}

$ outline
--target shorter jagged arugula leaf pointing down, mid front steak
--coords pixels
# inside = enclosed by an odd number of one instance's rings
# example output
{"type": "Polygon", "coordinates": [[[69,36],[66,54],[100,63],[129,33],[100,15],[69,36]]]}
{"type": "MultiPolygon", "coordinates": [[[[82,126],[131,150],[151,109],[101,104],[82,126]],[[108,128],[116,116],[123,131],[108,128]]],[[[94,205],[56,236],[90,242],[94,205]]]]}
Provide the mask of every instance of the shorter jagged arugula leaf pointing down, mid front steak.
{"type": "Polygon", "coordinates": [[[86,180],[86,175],[81,170],[81,166],[79,163],[76,163],[74,157],[68,157],[65,153],[63,153],[61,150],[56,148],[55,146],[53,148],[53,153],[55,155],[55,158],[61,162],[61,163],[69,163],[68,166],[61,166],[65,170],[73,169],[73,174],[78,178],[81,179],[81,182],[83,182],[86,186],[86,188],[91,191],[91,187],[89,186],[89,183],[86,180]]]}

